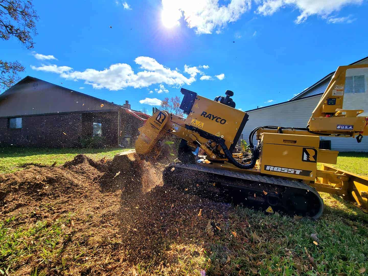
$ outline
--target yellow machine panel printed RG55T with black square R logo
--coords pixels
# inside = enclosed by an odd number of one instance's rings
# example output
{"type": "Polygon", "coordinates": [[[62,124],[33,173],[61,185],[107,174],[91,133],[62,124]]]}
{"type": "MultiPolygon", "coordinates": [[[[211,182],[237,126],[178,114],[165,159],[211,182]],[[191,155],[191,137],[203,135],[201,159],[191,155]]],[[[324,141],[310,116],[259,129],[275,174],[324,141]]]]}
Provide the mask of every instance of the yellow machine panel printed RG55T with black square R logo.
{"type": "Polygon", "coordinates": [[[314,180],[319,137],[262,133],[261,173],[314,180]]]}

